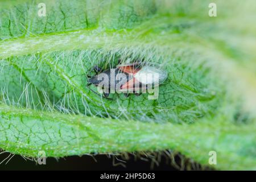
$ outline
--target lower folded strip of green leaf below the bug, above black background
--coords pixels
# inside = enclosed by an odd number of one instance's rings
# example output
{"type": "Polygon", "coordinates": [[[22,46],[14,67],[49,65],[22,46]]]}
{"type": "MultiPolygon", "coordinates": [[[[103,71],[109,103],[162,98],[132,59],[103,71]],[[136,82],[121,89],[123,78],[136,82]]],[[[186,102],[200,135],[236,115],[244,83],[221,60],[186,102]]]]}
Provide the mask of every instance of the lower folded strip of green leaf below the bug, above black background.
{"type": "Polygon", "coordinates": [[[255,131],[248,126],[230,126],[217,118],[193,125],[143,123],[83,115],[46,113],[15,107],[0,107],[0,147],[15,154],[47,156],[91,152],[158,151],[176,148],[202,164],[211,150],[221,151],[221,169],[255,169],[255,131]],[[236,159],[238,162],[234,162],[236,159]],[[239,163],[241,162],[241,163],[239,163]],[[242,165],[241,165],[242,164],[242,165]]]}

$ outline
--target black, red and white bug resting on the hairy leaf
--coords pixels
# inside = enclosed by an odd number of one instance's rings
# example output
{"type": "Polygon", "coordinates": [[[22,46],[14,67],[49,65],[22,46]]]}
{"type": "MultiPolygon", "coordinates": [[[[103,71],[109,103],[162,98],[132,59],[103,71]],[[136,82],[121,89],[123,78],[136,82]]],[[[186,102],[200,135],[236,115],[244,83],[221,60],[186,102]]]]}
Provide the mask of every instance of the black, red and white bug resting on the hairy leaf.
{"type": "Polygon", "coordinates": [[[113,93],[111,89],[114,92],[123,93],[126,97],[130,96],[131,93],[140,96],[148,88],[162,84],[167,78],[167,72],[160,69],[158,65],[143,66],[140,63],[121,64],[121,60],[118,61],[117,67],[113,69],[102,71],[97,66],[93,69],[96,75],[88,76],[87,86],[100,86],[105,98],[109,97],[109,93],[113,93]],[[105,79],[102,79],[103,77],[105,79]],[[102,80],[107,80],[107,82],[102,85],[102,80]]]}

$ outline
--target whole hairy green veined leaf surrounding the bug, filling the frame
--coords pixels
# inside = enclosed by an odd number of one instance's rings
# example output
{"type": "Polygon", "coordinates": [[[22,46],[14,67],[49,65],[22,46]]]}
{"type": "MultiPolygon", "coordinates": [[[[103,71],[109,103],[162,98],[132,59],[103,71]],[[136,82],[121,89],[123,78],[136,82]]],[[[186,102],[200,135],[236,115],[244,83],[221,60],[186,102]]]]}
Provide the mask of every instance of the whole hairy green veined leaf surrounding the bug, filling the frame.
{"type": "Polygon", "coordinates": [[[256,169],[256,3],[214,2],[213,18],[199,0],[44,1],[45,17],[39,1],[0,2],[0,147],[32,157],[172,150],[205,166],[216,151],[217,169],[256,169]],[[86,87],[94,65],[118,59],[168,72],[157,100],[86,87]]]}

